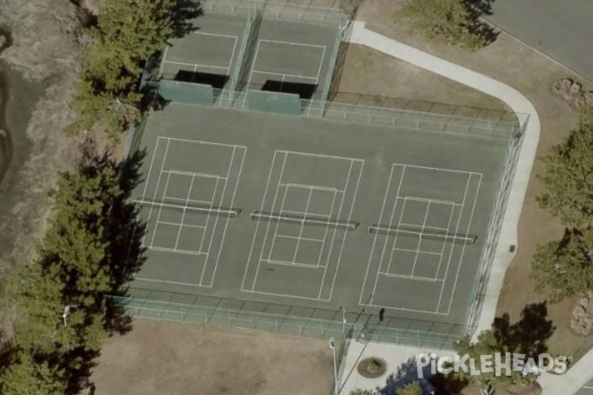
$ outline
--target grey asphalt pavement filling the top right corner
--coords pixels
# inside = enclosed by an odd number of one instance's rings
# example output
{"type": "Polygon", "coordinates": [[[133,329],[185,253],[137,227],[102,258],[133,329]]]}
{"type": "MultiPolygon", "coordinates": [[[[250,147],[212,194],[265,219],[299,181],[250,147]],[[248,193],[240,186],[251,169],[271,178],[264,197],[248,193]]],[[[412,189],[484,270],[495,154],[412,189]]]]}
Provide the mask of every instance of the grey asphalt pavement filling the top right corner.
{"type": "Polygon", "coordinates": [[[495,0],[486,19],[593,81],[592,0],[495,0]]]}

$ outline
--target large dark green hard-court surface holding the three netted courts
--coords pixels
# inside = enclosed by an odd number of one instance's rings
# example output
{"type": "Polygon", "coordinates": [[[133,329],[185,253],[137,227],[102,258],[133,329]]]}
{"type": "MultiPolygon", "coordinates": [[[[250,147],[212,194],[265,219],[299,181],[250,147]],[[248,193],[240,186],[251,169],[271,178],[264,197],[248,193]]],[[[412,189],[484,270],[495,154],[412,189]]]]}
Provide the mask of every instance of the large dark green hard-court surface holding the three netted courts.
{"type": "Polygon", "coordinates": [[[142,137],[133,294],[461,330],[508,141],[172,103],[142,137]]]}

